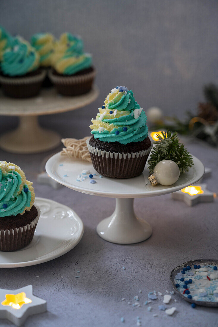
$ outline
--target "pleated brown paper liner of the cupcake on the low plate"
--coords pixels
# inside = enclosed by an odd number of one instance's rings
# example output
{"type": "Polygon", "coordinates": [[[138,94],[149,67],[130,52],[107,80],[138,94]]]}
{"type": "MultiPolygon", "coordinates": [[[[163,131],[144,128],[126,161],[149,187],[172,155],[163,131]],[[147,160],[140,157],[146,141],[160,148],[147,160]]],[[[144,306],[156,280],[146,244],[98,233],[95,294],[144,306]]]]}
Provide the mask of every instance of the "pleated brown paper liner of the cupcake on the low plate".
{"type": "Polygon", "coordinates": [[[26,247],[32,241],[40,216],[40,208],[35,204],[34,206],[38,211],[38,215],[31,223],[19,228],[0,230],[0,251],[19,250],[26,247]]]}

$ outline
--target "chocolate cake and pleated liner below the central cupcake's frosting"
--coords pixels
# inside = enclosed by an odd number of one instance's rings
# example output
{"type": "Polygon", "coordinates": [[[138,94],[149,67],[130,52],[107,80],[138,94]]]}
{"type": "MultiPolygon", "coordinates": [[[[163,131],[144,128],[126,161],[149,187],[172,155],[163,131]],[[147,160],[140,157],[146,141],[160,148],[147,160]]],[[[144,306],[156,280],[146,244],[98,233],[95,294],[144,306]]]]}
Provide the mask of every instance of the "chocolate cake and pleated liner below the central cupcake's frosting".
{"type": "Polygon", "coordinates": [[[132,178],[140,175],[144,170],[152,148],[149,137],[141,142],[133,142],[126,145],[118,142],[110,144],[99,140],[96,142],[96,139],[92,137],[89,140],[89,145],[101,150],[101,153],[95,153],[95,151],[93,153],[89,149],[95,170],[100,175],[118,179],[132,178]]]}

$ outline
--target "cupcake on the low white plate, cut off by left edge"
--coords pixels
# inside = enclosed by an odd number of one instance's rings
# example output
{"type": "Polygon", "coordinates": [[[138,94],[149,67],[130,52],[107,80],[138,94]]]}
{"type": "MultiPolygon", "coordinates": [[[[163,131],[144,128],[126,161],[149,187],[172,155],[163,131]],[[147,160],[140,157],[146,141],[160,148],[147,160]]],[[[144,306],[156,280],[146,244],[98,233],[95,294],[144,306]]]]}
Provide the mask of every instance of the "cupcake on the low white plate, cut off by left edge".
{"type": "Polygon", "coordinates": [[[33,238],[40,209],[32,182],[13,163],[0,161],[0,251],[15,251],[33,238]]]}

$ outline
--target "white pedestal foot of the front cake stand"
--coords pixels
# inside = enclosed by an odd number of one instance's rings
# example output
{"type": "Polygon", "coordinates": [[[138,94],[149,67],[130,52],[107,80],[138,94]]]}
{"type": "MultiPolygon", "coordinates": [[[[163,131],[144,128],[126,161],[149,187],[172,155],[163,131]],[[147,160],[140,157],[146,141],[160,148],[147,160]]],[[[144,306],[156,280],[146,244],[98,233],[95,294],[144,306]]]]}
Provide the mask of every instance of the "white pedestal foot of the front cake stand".
{"type": "Polygon", "coordinates": [[[97,226],[100,237],[112,243],[132,244],[151,236],[151,225],[136,217],[133,201],[131,198],[116,198],[114,213],[97,226]]]}

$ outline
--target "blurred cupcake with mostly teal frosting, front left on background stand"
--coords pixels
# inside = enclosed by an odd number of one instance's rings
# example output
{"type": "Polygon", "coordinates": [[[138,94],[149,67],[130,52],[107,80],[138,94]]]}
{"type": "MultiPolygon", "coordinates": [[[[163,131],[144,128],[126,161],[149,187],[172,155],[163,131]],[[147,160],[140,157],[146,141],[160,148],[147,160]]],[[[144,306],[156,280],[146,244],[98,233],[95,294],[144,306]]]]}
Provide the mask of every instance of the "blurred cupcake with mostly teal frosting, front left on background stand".
{"type": "Polygon", "coordinates": [[[21,37],[14,38],[2,55],[0,82],[4,93],[16,98],[35,96],[44,78],[36,50],[21,37]]]}

